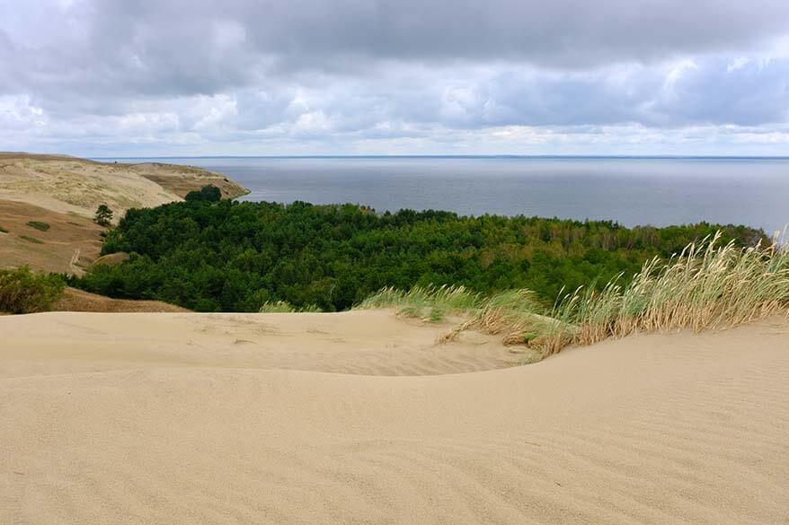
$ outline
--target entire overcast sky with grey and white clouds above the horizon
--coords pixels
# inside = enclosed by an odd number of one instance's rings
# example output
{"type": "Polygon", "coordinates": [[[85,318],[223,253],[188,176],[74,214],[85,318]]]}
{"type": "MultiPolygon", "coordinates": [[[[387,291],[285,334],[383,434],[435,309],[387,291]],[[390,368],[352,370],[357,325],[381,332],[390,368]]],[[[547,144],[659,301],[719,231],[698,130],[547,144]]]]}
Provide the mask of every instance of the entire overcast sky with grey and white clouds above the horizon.
{"type": "Polygon", "coordinates": [[[789,154],[786,0],[0,0],[0,150],[789,154]]]}

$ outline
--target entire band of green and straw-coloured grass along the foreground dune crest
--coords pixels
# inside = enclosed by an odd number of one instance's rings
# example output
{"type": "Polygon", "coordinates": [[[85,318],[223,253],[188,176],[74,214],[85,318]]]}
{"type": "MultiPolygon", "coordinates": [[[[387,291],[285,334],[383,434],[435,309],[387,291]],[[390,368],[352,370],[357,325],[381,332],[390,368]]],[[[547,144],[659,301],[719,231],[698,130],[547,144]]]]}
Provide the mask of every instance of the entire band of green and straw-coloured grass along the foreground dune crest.
{"type": "MultiPolygon", "coordinates": [[[[510,290],[457,302],[469,320],[445,338],[465,329],[501,335],[505,344],[527,345],[543,357],[565,346],[586,346],[635,332],[690,328],[730,328],[772,315],[789,314],[789,249],[777,244],[737,247],[721,243],[720,233],[691,243],[669,260],[652,258],[627,284],[616,276],[602,289],[579,287],[545,307],[535,293],[510,290]]],[[[452,288],[386,288],[359,308],[390,307],[430,311],[453,297],[452,288]]],[[[418,314],[418,317],[424,317],[418,314]]]]}

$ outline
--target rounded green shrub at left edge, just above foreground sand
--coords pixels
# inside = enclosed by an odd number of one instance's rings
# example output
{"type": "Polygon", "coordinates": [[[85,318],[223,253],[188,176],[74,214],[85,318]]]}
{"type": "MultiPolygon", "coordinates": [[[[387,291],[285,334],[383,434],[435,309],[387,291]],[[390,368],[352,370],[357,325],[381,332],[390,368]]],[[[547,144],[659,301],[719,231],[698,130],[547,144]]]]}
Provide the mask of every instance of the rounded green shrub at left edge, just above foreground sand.
{"type": "Polygon", "coordinates": [[[0,311],[48,311],[65,288],[61,276],[34,273],[29,267],[0,270],[0,311]]]}

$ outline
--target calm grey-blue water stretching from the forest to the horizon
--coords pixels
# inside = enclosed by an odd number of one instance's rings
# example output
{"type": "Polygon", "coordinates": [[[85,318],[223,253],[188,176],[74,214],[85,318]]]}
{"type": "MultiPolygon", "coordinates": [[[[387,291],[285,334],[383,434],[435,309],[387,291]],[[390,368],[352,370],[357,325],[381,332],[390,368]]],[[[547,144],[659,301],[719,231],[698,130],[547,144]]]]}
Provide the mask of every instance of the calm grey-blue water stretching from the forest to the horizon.
{"type": "MultiPolygon", "coordinates": [[[[108,159],[102,159],[107,161],[108,159]]],[[[244,200],[356,203],[377,211],[610,219],[626,226],[789,223],[789,158],[167,157],[222,171],[244,200]]]]}

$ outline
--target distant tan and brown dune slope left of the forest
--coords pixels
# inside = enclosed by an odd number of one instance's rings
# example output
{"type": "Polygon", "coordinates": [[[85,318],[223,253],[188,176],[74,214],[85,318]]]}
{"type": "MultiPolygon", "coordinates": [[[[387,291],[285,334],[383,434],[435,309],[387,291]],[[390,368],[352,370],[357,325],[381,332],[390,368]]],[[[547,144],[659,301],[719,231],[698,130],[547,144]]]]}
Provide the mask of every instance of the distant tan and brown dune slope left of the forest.
{"type": "Polygon", "coordinates": [[[110,206],[118,220],[129,208],[181,200],[208,184],[226,198],[247,192],[221,173],[193,166],[0,153],[0,227],[8,230],[0,230],[0,268],[24,264],[80,275],[99,257],[103,229],[91,220],[100,204],[110,206]],[[52,227],[39,232],[28,221],[52,227]]]}

